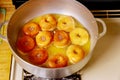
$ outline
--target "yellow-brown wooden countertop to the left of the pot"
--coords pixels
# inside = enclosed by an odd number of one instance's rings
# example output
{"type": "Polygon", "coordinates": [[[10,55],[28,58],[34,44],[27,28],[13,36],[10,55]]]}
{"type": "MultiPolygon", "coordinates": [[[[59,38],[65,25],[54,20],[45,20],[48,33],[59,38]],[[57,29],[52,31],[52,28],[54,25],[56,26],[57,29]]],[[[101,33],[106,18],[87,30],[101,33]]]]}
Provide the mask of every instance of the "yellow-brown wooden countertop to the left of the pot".
{"type": "MultiPolygon", "coordinates": [[[[0,0],[0,23],[10,19],[15,11],[12,0],[0,0]]],[[[6,26],[3,26],[0,33],[6,35],[6,26]]],[[[7,42],[0,39],[0,80],[9,80],[12,52],[7,42]]]]}

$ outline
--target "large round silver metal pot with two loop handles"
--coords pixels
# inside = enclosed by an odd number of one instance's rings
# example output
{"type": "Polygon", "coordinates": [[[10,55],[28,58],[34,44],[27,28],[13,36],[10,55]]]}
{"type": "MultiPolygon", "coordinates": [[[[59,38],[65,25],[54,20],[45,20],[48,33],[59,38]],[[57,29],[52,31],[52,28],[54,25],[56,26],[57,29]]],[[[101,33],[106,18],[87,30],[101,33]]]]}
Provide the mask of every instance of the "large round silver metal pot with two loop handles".
{"type": "Polygon", "coordinates": [[[8,22],[7,38],[2,35],[0,37],[8,41],[16,61],[22,68],[39,77],[61,78],[79,71],[87,64],[92,56],[97,40],[105,33],[105,23],[100,19],[95,19],[84,5],[75,0],[30,0],[20,6],[12,15],[8,22]],[[28,63],[18,55],[15,43],[22,25],[34,17],[48,13],[71,15],[89,31],[91,39],[90,52],[82,61],[63,68],[43,68],[28,63]],[[99,33],[96,20],[102,24],[103,31],[101,33],[99,33]]]}

